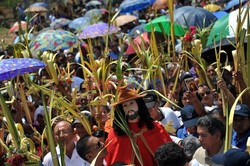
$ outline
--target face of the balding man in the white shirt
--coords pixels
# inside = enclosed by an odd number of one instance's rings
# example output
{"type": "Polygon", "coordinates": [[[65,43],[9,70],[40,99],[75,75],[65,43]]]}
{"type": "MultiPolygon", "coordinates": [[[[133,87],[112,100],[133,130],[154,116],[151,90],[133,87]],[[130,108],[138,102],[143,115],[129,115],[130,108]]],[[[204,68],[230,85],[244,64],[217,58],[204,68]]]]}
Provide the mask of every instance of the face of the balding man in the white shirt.
{"type": "Polygon", "coordinates": [[[57,142],[61,142],[63,145],[71,143],[74,138],[74,132],[69,122],[58,122],[54,128],[54,136],[57,142]]]}

